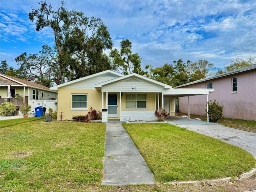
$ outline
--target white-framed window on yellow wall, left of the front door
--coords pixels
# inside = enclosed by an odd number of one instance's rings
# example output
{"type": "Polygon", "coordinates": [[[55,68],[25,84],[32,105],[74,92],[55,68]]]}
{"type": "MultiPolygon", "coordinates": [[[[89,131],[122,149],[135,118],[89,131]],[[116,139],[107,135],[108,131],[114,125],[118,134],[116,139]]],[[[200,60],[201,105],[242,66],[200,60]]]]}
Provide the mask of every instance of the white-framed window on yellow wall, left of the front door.
{"type": "Polygon", "coordinates": [[[87,110],[87,94],[72,94],[71,110],[87,110]]]}

